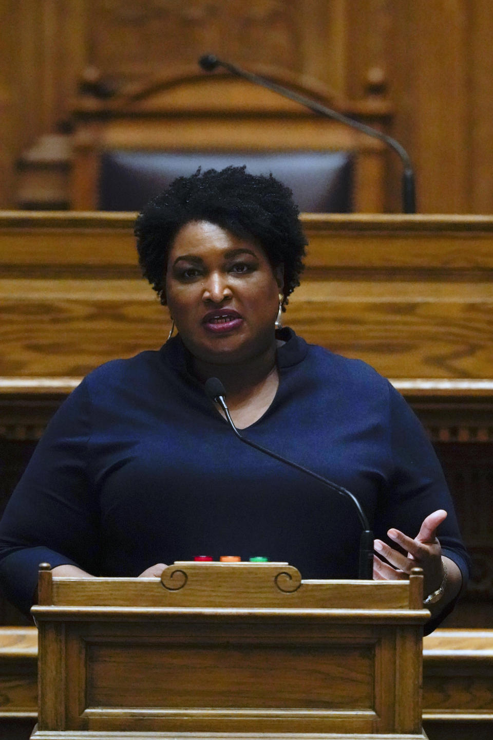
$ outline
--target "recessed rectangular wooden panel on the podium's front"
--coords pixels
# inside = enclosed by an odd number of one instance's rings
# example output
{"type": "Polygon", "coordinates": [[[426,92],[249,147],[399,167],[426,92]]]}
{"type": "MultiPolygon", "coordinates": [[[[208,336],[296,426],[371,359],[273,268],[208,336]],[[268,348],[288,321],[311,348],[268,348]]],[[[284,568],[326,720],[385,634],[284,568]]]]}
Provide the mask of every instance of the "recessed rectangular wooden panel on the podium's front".
{"type": "MultiPolygon", "coordinates": [[[[132,638],[130,638],[132,639],[132,638]]],[[[87,707],[373,710],[374,645],[88,646],[87,707]],[[268,665],[268,670],[265,666],[268,665]],[[224,674],[229,677],[224,684],[224,674]],[[296,675],[296,684],[291,677],[296,675]],[[149,681],[149,679],[151,679],[149,681]],[[259,686],[268,690],[259,695],[259,686]],[[350,685],[350,690],[348,690],[350,685]],[[164,698],[166,696],[166,699],[164,698]],[[164,700],[164,702],[163,702],[164,700]]]]}

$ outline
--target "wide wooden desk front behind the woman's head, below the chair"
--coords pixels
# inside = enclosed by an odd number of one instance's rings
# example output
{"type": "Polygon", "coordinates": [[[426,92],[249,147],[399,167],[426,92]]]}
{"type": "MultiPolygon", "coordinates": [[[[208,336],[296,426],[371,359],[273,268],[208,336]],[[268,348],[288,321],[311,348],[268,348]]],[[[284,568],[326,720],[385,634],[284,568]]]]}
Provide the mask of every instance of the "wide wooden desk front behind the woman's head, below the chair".
{"type": "MultiPolygon", "coordinates": [[[[0,375],[81,377],[157,349],[169,317],[136,266],[132,214],[0,215],[0,375]]],[[[387,377],[488,379],[493,219],[306,215],[285,323],[387,377]]]]}

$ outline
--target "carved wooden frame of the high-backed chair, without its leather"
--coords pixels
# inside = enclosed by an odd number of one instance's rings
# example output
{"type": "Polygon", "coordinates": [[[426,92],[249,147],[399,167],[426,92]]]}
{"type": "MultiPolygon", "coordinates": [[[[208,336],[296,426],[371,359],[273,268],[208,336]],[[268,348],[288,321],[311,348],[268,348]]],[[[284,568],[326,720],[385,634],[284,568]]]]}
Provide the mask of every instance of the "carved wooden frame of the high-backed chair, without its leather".
{"type": "MultiPolygon", "coordinates": [[[[339,112],[358,115],[370,125],[387,125],[390,109],[381,98],[370,95],[368,100],[342,101],[313,78],[275,67],[258,67],[255,71],[339,112]]],[[[387,152],[380,141],[228,73],[176,68],[128,87],[107,101],[79,98],[73,120],[75,210],[96,208],[99,161],[108,149],[349,150],[356,152],[355,210],[384,210],[387,152]]]]}

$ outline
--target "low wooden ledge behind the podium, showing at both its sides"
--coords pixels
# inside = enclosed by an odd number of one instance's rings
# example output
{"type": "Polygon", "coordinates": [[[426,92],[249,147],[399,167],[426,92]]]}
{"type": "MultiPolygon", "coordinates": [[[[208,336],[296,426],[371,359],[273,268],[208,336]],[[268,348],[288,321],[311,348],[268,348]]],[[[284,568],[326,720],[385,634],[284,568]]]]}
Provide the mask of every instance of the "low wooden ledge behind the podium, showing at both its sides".
{"type": "MultiPolygon", "coordinates": [[[[9,738],[27,740],[37,715],[37,638],[34,627],[0,628],[0,731],[9,738]],[[18,735],[10,730],[15,721],[18,735]]],[[[472,735],[489,739],[492,630],[435,630],[424,638],[423,647],[424,724],[429,739],[463,740],[472,735]]]]}

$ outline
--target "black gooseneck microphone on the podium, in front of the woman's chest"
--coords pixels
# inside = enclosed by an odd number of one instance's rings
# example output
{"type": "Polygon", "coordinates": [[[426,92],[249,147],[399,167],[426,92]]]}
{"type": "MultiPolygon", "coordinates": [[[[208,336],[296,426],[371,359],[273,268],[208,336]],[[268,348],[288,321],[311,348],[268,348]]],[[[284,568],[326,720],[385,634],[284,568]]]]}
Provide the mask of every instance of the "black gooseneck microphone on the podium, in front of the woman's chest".
{"type": "Polygon", "coordinates": [[[343,488],[341,485],[338,485],[331,480],[327,480],[327,478],[323,478],[318,473],[314,473],[312,470],[304,468],[303,465],[298,465],[297,462],[286,460],[285,457],[281,457],[281,455],[276,454],[276,452],[272,452],[271,450],[262,447],[262,445],[257,445],[256,442],[252,442],[246,437],[243,437],[242,434],[239,434],[239,431],[234,425],[234,421],[231,419],[231,414],[229,413],[229,409],[225,401],[225,388],[218,377],[210,377],[208,380],[205,381],[205,393],[208,395],[211,401],[219,403],[222,411],[224,411],[226,415],[226,419],[228,420],[231,429],[234,431],[234,434],[237,435],[239,440],[247,445],[250,445],[256,450],[259,450],[259,452],[263,452],[269,457],[273,457],[274,460],[284,462],[285,465],[290,465],[291,468],[295,468],[295,470],[301,471],[302,473],[315,478],[315,480],[318,480],[319,482],[326,485],[327,488],[330,488],[331,491],[335,491],[336,494],[341,494],[341,496],[344,496],[345,498],[350,499],[350,501],[353,502],[353,505],[356,506],[358,518],[363,528],[363,531],[361,532],[361,538],[359,540],[358,578],[365,581],[373,580],[373,531],[371,531],[370,529],[370,522],[368,522],[367,515],[361,508],[361,504],[356,496],[354,496],[350,491],[347,491],[347,488],[343,488]]]}

